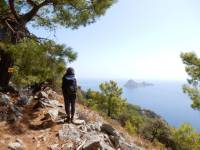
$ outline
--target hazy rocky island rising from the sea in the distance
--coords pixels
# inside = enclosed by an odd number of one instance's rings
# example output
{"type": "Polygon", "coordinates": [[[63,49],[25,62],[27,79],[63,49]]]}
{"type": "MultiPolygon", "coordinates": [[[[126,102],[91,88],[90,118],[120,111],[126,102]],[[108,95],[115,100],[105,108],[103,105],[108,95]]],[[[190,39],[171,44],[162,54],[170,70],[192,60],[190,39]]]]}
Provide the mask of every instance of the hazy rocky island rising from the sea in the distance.
{"type": "Polygon", "coordinates": [[[136,82],[134,80],[128,80],[126,82],[126,84],[124,85],[124,87],[128,88],[128,89],[133,89],[133,88],[139,88],[139,87],[146,87],[146,86],[153,86],[152,83],[148,83],[148,82],[136,82]]]}

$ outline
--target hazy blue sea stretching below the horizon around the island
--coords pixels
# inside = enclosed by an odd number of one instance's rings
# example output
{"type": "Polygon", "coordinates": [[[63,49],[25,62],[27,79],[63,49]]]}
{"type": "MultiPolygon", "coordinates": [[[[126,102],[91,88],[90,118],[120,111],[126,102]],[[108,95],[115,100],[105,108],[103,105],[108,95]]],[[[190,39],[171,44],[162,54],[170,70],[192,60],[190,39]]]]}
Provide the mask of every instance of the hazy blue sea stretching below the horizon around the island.
{"type": "MultiPolygon", "coordinates": [[[[83,90],[99,90],[99,84],[109,80],[80,79],[83,90]]],[[[148,81],[154,86],[127,89],[123,85],[127,80],[115,80],[123,88],[123,97],[129,103],[150,109],[163,117],[170,125],[179,127],[183,123],[191,124],[200,131],[200,111],[193,110],[191,100],[183,93],[181,81],[148,81]]],[[[137,80],[136,80],[137,81],[137,80]]]]}

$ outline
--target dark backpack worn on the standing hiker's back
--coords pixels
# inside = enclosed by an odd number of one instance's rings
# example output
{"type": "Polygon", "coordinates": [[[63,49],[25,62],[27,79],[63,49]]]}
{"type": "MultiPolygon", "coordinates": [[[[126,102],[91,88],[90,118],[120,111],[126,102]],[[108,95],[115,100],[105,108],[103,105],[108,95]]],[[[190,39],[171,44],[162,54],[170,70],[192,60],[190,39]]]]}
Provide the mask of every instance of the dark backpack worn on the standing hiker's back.
{"type": "Polygon", "coordinates": [[[68,95],[76,94],[77,85],[75,77],[64,76],[63,77],[63,90],[68,95]]]}

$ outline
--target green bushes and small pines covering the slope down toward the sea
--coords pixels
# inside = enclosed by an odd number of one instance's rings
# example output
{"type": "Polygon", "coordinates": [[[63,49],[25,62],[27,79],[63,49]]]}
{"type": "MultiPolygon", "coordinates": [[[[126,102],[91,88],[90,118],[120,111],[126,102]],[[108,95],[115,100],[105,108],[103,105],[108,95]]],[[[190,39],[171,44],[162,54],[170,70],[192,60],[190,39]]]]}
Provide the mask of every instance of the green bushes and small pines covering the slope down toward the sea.
{"type": "Polygon", "coordinates": [[[183,124],[174,128],[154,112],[128,104],[121,96],[122,89],[114,81],[102,83],[99,87],[99,92],[89,89],[82,93],[84,103],[104,116],[117,120],[130,135],[143,137],[161,149],[200,148],[200,133],[191,125],[183,124]]]}

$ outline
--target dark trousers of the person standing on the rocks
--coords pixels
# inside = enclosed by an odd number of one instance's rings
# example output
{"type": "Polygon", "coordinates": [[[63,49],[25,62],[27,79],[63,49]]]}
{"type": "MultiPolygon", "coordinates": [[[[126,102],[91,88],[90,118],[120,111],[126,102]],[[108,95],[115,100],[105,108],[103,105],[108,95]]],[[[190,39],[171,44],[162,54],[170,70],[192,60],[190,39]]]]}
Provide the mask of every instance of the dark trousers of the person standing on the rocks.
{"type": "Polygon", "coordinates": [[[70,117],[70,114],[71,114],[71,118],[73,118],[74,113],[75,113],[76,94],[67,95],[63,93],[63,95],[64,95],[65,111],[66,111],[67,117],[70,117]],[[71,111],[70,111],[70,106],[71,106],[71,111]]]}

